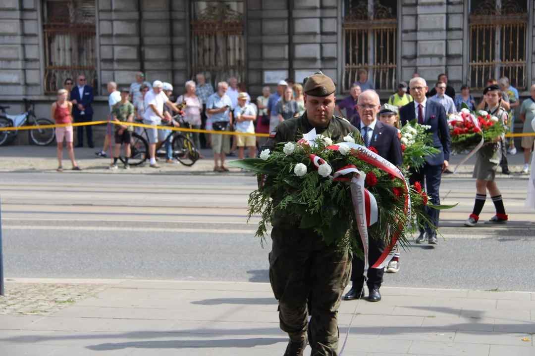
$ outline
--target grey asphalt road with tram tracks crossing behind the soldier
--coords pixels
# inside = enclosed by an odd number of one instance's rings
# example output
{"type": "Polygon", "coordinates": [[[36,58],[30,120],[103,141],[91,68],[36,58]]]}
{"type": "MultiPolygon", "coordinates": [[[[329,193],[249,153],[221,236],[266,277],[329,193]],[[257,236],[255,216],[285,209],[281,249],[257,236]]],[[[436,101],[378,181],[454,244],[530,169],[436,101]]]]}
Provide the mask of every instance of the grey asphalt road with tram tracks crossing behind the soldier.
{"type": "MultiPolygon", "coordinates": [[[[460,228],[474,181],[445,179],[446,240],[402,251],[385,286],[535,290],[535,225],[526,180],[499,181],[510,227],[460,228]]],[[[6,278],[268,282],[269,238],[247,220],[252,177],[0,173],[6,278]]],[[[492,203],[486,215],[492,216],[492,203]]]]}

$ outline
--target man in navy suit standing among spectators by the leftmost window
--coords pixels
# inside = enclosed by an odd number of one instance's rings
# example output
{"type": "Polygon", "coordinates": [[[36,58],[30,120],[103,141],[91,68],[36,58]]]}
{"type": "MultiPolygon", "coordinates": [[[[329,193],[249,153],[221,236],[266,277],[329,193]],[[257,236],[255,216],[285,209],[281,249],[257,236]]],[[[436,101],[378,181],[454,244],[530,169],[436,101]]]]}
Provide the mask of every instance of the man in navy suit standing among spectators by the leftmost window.
{"type": "MultiPolygon", "coordinates": [[[[74,104],[72,106],[72,115],[75,122],[93,121],[93,108],[91,108],[93,96],[93,88],[86,85],[86,76],[78,76],[78,86],[71,92],[71,101],[74,104]]],[[[83,147],[83,128],[84,126],[78,126],[78,145],[76,147],[83,147]]],[[[93,129],[91,128],[91,125],[87,125],[85,128],[87,133],[87,145],[93,148],[93,129]]]]}

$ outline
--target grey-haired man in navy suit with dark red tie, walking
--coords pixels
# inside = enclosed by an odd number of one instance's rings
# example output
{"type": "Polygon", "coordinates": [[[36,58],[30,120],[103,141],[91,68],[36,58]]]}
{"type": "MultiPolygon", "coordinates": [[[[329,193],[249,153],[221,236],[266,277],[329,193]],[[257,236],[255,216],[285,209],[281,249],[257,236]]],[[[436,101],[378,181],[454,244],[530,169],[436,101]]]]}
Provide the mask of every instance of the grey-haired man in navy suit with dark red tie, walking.
{"type": "MultiPolygon", "coordinates": [[[[451,145],[446,110],[437,102],[426,99],[425,93],[427,93],[428,88],[423,78],[412,78],[409,90],[414,102],[400,109],[401,125],[417,118],[419,124],[431,126],[427,132],[432,134],[433,146],[440,149],[440,153],[426,157],[427,162],[420,170],[417,171],[410,168],[411,176],[409,182],[412,185],[419,181],[422,187],[425,187],[427,194],[431,196],[431,202],[439,205],[440,179],[442,178],[442,172],[448,168],[449,147],[451,145]]],[[[429,220],[434,226],[438,227],[439,210],[426,209],[429,220]]],[[[437,234],[430,226],[425,226],[425,229],[420,231],[416,243],[423,243],[426,238],[430,244],[438,243],[437,234]]]]}

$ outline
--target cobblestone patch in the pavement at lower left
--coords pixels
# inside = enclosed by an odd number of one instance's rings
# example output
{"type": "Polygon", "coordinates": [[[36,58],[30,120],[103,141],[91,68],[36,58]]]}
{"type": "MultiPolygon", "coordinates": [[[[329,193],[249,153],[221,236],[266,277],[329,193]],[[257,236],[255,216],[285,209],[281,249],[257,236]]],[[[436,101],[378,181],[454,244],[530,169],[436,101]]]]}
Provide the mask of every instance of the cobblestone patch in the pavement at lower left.
{"type": "Polygon", "coordinates": [[[50,315],[109,288],[109,284],[5,283],[0,315],[50,315]]]}

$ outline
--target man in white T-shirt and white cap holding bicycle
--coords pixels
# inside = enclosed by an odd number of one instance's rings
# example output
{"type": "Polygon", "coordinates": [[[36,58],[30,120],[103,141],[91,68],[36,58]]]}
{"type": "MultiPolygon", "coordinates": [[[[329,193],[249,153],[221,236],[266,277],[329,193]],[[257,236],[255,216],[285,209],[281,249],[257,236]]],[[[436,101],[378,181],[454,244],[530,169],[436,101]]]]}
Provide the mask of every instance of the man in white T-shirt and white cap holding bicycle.
{"type": "MultiPolygon", "coordinates": [[[[152,90],[145,94],[144,124],[154,126],[161,124],[162,120],[165,120],[164,105],[174,112],[178,113],[180,111],[177,105],[165,95],[163,86],[161,81],[155,81],[152,83],[152,90]]],[[[159,168],[159,165],[156,163],[156,143],[162,143],[165,140],[164,132],[156,128],[147,128],[147,136],[149,139],[150,167],[159,168]]]]}

